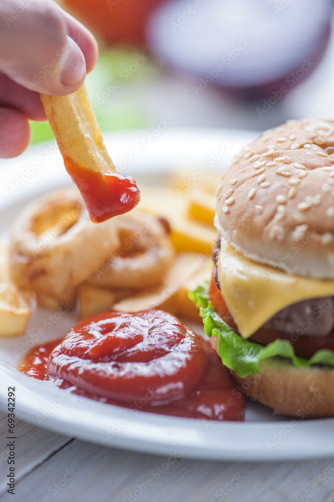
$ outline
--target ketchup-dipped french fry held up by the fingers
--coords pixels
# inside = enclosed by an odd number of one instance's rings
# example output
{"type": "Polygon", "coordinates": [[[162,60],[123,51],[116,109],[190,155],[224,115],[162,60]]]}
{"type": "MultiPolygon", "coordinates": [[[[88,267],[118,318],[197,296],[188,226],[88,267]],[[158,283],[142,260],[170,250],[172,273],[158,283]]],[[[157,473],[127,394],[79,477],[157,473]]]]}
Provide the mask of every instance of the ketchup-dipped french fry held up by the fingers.
{"type": "Polygon", "coordinates": [[[64,158],[94,223],[123,214],[138,203],[131,177],[120,176],[104,146],[84,85],[67,96],[41,94],[41,100],[64,158]]]}

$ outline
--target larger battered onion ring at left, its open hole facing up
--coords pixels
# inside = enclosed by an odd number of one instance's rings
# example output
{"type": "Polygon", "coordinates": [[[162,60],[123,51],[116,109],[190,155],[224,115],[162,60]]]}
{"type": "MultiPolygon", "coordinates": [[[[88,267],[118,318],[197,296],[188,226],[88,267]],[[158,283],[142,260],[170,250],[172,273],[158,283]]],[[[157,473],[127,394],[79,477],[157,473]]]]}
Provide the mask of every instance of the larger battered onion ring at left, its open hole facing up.
{"type": "Polygon", "coordinates": [[[95,225],[75,188],[32,202],[14,223],[11,274],[22,289],[59,297],[88,279],[119,245],[114,219],[95,225]]]}

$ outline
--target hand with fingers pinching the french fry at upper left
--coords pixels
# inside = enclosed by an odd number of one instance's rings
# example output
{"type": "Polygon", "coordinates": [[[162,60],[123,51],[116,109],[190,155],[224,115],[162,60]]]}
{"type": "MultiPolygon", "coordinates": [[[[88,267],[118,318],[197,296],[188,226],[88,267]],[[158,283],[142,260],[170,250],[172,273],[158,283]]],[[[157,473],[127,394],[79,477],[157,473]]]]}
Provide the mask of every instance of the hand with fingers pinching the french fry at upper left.
{"type": "Polygon", "coordinates": [[[97,58],[93,35],[51,0],[1,0],[0,157],[28,147],[28,119],[46,120],[39,93],[76,91],[97,58]]]}

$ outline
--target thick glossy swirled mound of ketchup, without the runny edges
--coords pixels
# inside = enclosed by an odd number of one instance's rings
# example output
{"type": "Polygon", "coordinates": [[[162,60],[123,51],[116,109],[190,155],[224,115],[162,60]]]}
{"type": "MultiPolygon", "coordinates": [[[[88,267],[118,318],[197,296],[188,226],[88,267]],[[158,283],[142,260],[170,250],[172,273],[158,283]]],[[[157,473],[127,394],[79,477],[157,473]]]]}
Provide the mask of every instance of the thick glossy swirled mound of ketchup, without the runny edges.
{"type": "Polygon", "coordinates": [[[208,365],[199,335],[171,314],[145,310],[80,322],[51,352],[47,374],[118,401],[164,404],[196,390],[208,365]]]}

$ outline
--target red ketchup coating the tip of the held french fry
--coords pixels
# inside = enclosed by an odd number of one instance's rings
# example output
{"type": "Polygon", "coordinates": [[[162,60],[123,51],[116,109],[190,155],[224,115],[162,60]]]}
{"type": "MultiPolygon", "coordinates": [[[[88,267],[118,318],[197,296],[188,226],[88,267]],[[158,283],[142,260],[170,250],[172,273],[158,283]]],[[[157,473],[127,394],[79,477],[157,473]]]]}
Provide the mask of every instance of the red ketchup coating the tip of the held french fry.
{"type": "Polygon", "coordinates": [[[86,169],[78,166],[69,157],[64,157],[64,164],[94,223],[127,213],[138,204],[140,192],[130,176],[86,169]]]}

